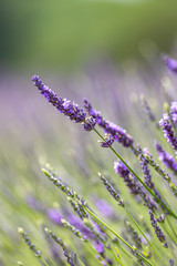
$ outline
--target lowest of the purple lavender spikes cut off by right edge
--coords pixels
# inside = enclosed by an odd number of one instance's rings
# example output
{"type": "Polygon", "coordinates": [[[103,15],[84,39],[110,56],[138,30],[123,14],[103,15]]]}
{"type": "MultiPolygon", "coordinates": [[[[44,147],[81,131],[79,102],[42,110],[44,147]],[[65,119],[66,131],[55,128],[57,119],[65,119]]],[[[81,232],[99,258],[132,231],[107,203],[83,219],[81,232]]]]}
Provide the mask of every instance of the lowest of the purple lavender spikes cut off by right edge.
{"type": "Polygon", "coordinates": [[[167,167],[173,170],[174,174],[177,174],[177,163],[175,162],[173,155],[167,153],[158,142],[155,142],[155,147],[159,154],[159,161],[167,167]]]}

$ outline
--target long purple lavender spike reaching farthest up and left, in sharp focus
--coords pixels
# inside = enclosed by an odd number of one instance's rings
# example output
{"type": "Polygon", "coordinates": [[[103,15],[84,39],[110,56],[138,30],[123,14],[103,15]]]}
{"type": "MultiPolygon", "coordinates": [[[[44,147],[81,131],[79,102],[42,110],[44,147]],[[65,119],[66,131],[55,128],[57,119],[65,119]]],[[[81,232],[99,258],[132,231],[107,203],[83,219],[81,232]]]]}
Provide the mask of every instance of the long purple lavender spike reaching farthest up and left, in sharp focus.
{"type": "Polygon", "coordinates": [[[94,117],[86,119],[86,113],[76,103],[62,98],[58,98],[49,86],[44,85],[38,75],[32,78],[34,86],[39,89],[42,95],[53,105],[60,113],[63,113],[75,123],[83,123],[85,131],[91,131],[96,122],[94,117]]]}

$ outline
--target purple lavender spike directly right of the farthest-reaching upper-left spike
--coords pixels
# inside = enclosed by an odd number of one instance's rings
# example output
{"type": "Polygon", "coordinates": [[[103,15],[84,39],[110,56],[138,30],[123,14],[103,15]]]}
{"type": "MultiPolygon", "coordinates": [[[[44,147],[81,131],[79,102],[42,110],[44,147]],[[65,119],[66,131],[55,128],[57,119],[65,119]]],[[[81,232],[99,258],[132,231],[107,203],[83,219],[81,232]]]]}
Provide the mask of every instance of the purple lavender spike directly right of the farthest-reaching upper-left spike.
{"type": "Polygon", "coordinates": [[[114,139],[116,142],[119,142],[125,147],[129,147],[133,144],[133,137],[126,133],[125,130],[123,130],[121,126],[105,120],[102,117],[101,112],[97,112],[96,110],[92,109],[91,103],[84,99],[83,100],[84,108],[87,111],[90,115],[92,115],[96,123],[104,129],[104,132],[110,134],[112,139],[114,139]]]}

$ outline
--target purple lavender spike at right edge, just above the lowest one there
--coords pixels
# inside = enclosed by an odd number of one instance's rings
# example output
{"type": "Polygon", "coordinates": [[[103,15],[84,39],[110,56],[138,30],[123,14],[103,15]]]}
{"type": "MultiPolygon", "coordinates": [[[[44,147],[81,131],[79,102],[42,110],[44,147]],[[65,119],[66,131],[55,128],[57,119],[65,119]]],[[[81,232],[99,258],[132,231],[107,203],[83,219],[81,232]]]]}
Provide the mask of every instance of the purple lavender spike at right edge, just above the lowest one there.
{"type": "Polygon", "coordinates": [[[163,114],[159,125],[163,126],[164,136],[167,139],[167,142],[169,142],[173,149],[177,151],[177,139],[174,134],[173,125],[167,113],[163,114]]]}

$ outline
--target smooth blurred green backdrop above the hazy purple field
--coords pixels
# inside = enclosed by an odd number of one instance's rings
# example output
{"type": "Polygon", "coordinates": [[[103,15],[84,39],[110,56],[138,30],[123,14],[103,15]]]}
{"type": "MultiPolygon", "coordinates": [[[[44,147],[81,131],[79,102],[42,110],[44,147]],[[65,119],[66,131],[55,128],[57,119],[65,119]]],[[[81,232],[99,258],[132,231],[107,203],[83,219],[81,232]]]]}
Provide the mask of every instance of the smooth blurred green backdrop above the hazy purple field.
{"type": "Polygon", "coordinates": [[[146,40],[169,51],[176,10],[168,0],[1,1],[1,66],[71,70],[102,57],[118,62],[140,58],[146,40]]]}

